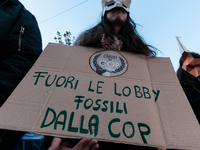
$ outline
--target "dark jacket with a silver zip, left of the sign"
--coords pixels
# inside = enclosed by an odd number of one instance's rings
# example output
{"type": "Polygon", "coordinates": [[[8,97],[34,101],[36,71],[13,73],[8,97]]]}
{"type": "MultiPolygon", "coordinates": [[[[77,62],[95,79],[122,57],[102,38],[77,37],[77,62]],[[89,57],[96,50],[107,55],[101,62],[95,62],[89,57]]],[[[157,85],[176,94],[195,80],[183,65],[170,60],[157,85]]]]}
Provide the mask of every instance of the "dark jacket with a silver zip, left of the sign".
{"type": "MultiPolygon", "coordinates": [[[[0,0],[0,106],[41,52],[41,34],[35,17],[18,0],[0,0]]],[[[23,135],[14,131],[1,133],[0,149],[23,135]]]]}

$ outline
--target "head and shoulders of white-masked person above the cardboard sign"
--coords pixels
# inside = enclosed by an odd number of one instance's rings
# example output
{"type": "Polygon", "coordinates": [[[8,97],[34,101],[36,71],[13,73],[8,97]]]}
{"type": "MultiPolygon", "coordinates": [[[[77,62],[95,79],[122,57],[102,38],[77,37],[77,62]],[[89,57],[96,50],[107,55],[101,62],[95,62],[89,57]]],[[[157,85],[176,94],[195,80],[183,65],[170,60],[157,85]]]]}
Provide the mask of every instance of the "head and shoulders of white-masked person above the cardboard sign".
{"type": "Polygon", "coordinates": [[[83,32],[74,45],[156,56],[156,48],[138,34],[129,15],[130,4],[131,0],[102,0],[101,22],[83,32]]]}

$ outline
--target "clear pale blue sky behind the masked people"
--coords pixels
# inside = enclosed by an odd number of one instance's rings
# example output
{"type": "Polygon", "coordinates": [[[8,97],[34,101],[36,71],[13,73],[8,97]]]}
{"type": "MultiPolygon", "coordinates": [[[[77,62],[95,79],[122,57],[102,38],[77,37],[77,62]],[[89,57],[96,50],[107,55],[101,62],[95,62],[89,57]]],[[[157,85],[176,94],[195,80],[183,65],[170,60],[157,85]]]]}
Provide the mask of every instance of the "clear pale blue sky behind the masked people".
{"type": "MultiPolygon", "coordinates": [[[[77,37],[96,25],[102,11],[101,0],[20,1],[35,15],[44,48],[55,42],[57,31],[71,31],[77,37]]],[[[200,0],[132,0],[130,16],[139,24],[137,30],[144,40],[162,52],[159,57],[170,57],[176,70],[181,56],[176,36],[190,51],[200,53],[199,7],[200,0]]]]}

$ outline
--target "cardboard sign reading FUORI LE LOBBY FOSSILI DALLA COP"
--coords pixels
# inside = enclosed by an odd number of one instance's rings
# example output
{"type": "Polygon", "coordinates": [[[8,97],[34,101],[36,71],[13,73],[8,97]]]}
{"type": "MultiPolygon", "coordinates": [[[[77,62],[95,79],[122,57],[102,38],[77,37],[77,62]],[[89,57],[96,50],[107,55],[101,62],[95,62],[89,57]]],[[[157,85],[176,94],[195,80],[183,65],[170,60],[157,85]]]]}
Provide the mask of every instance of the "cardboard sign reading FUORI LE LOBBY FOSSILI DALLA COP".
{"type": "Polygon", "coordinates": [[[200,149],[169,58],[49,44],[0,109],[0,128],[200,149]]]}

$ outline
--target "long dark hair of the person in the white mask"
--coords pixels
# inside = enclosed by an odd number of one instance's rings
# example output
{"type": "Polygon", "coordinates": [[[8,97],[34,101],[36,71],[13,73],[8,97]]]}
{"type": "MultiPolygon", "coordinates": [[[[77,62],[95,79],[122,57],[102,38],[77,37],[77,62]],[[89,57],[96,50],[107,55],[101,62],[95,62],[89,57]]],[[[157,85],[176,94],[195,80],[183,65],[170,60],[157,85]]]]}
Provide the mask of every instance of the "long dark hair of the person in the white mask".
{"type": "Polygon", "coordinates": [[[109,25],[106,14],[101,17],[99,22],[93,28],[83,32],[75,41],[74,45],[99,47],[102,48],[101,39],[102,35],[110,37],[114,42],[113,35],[117,36],[123,42],[122,51],[134,52],[138,54],[144,54],[146,56],[156,56],[156,48],[147,45],[143,38],[139,35],[136,30],[135,22],[128,18],[121,27],[120,31],[116,34],[112,26],[109,25]]]}

